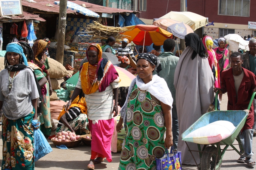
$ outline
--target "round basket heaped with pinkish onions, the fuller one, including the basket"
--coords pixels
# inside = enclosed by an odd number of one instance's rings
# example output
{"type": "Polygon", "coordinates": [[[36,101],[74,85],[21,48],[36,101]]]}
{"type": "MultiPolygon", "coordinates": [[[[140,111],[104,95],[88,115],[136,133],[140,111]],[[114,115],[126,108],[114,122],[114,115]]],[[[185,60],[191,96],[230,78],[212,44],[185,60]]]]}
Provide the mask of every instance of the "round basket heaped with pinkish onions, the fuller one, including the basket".
{"type": "Polygon", "coordinates": [[[60,146],[60,145],[65,145],[68,148],[73,148],[76,147],[82,140],[79,135],[76,135],[76,133],[72,133],[70,131],[62,131],[57,133],[56,137],[53,137],[52,143],[60,146]]]}

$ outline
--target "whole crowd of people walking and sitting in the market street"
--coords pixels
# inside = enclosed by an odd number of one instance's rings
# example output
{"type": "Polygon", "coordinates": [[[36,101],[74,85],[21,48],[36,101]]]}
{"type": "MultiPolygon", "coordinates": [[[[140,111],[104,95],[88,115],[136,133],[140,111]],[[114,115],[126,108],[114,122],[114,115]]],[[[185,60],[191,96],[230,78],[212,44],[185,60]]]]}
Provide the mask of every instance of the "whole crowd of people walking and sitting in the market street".
{"type": "MultiPolygon", "coordinates": [[[[228,110],[247,108],[256,91],[256,39],[250,38],[250,51],[244,54],[229,53],[225,38],[218,40],[215,49],[207,35],[200,39],[196,33],[189,33],[185,42],[186,49],[180,51],[181,55],[179,51],[174,54],[173,39],[164,41],[164,52],[158,46],[150,53],[145,48],[139,48],[138,52],[128,46],[128,39],[123,39],[115,51],[114,37],[102,40],[101,47],[99,44],[87,47],[88,62],[80,68],[76,88],[58,117],[56,133],[90,130],[88,169],[95,169],[95,164],[105,159],[112,161],[115,129],[119,135],[117,145],[122,145],[120,170],[156,170],[156,159],[162,158],[165,149],[171,146],[181,151],[182,164],[199,164],[199,153],[193,153],[194,161],[181,134],[203,114],[214,110],[217,92],[218,109],[226,92],[228,110]],[[138,55],[134,55],[135,51],[138,55]],[[114,65],[102,58],[102,52],[113,54],[120,62],[117,66],[136,76],[130,86],[119,87],[121,79],[114,65]]],[[[38,40],[31,48],[27,42],[19,41],[6,47],[5,69],[0,72],[0,109],[4,113],[2,169],[34,169],[32,120],[41,122],[45,137],[51,135],[49,43],[48,39],[38,40]]],[[[248,117],[239,133],[245,152],[237,162],[253,166],[256,99],[247,111],[248,117]]],[[[195,143],[188,146],[197,150],[195,143]]]]}

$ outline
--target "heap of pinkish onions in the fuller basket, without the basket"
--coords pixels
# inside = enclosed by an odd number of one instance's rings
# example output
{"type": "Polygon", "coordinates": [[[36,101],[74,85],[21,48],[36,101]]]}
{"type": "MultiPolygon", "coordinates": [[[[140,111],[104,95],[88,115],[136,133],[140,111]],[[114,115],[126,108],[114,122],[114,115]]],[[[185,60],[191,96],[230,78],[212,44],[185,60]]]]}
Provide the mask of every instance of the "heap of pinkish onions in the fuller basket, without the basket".
{"type": "Polygon", "coordinates": [[[72,133],[70,131],[62,131],[57,133],[56,137],[52,138],[52,140],[59,141],[59,142],[71,142],[79,140],[81,137],[80,135],[76,135],[76,133],[72,133]]]}

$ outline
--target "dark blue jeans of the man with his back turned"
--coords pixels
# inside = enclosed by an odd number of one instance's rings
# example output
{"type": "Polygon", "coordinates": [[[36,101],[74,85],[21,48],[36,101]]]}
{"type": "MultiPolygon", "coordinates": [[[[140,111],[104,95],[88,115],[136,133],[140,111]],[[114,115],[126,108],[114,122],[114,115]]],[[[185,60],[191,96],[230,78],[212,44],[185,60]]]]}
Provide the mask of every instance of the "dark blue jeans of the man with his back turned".
{"type": "Polygon", "coordinates": [[[172,142],[174,149],[177,149],[179,139],[179,122],[176,105],[172,105],[172,142]]]}

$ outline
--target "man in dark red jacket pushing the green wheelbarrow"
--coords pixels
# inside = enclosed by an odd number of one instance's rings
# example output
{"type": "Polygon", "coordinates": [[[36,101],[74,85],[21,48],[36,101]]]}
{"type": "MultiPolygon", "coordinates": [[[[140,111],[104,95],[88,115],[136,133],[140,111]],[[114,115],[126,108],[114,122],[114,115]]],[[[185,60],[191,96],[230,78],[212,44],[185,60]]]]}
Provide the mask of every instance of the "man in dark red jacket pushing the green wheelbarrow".
{"type": "MultiPolygon", "coordinates": [[[[250,103],[252,93],[256,91],[255,75],[242,68],[242,54],[234,52],[230,56],[231,68],[221,74],[221,88],[214,88],[214,92],[223,94],[228,92],[228,110],[245,110],[250,103]]],[[[248,107],[249,108],[249,107],[248,107]]],[[[248,166],[255,165],[252,159],[252,126],[254,123],[253,105],[251,105],[244,127],[239,133],[244,154],[240,155],[238,163],[246,163],[248,166]]]]}

